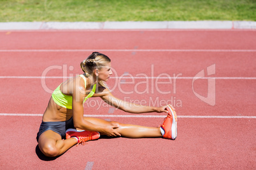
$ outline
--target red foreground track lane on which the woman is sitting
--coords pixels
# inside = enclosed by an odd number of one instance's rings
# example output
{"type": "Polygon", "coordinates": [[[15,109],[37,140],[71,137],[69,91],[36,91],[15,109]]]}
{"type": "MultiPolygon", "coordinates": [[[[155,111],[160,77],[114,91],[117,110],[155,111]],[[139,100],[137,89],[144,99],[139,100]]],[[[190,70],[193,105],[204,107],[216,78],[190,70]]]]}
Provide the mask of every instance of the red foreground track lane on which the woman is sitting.
{"type": "MultiPolygon", "coordinates": [[[[118,117],[115,120],[143,126],[158,126],[163,121],[162,118],[118,117]]],[[[94,169],[255,167],[255,143],[245,142],[255,141],[255,119],[179,119],[178,138],[174,141],[162,138],[101,138],[89,141],[84,146],[74,146],[57,159],[43,157],[36,148],[36,133],[40,122],[40,117],[1,117],[0,133],[9,136],[9,140],[1,143],[1,168],[66,169],[72,166],[84,169],[87,162],[94,162],[94,169]],[[26,126],[24,122],[27,122],[26,126]],[[77,155],[80,155],[80,159],[77,159],[77,155]],[[170,161],[174,157],[175,160],[170,161]]]]}

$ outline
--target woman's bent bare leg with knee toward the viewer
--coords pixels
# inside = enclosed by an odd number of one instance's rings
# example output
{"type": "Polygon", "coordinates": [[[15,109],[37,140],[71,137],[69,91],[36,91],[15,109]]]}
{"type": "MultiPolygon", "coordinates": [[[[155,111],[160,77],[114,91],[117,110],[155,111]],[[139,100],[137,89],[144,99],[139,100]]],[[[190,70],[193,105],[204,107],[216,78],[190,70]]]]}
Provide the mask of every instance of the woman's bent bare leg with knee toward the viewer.
{"type": "Polygon", "coordinates": [[[42,133],[38,139],[38,147],[47,157],[61,155],[77,143],[75,138],[62,140],[61,136],[54,131],[48,130],[42,133]]]}

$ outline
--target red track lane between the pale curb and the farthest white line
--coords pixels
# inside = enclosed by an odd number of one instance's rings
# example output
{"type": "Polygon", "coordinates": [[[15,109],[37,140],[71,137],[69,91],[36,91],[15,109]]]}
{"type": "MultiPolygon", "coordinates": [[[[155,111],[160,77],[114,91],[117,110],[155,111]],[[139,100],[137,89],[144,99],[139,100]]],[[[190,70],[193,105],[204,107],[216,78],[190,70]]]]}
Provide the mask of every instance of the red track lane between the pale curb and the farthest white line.
{"type": "Polygon", "coordinates": [[[15,31],[0,39],[1,49],[256,49],[253,30],[15,31]]]}

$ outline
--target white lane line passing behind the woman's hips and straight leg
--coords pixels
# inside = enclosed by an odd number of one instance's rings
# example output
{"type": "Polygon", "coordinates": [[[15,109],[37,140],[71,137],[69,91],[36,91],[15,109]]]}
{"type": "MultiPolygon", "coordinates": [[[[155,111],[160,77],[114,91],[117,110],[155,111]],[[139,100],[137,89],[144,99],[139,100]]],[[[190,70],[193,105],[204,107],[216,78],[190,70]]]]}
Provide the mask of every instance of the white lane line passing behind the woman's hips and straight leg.
{"type": "MultiPolygon", "coordinates": [[[[43,116],[43,114],[4,114],[5,116],[43,116]]],[[[137,118],[164,118],[166,115],[84,115],[85,117],[137,117],[137,118]]],[[[256,116],[236,116],[236,115],[178,115],[178,118],[195,118],[195,119],[256,119],[256,116]]]]}

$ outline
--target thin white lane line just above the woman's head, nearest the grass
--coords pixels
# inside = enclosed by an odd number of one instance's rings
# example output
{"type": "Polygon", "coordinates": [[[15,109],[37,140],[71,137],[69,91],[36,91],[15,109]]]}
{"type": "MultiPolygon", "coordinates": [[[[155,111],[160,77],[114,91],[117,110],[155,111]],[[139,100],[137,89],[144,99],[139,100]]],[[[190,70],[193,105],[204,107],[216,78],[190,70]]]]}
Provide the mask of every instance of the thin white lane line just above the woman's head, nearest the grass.
{"type": "Polygon", "coordinates": [[[0,49],[0,52],[256,52],[256,49],[0,49]]]}

